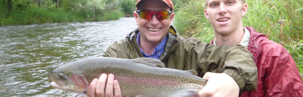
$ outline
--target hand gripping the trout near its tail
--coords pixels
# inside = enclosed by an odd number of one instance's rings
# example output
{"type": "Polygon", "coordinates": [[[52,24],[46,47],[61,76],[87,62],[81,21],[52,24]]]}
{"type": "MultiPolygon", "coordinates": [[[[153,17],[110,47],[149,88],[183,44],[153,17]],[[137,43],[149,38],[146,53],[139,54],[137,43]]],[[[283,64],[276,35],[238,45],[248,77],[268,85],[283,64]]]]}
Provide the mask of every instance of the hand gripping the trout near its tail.
{"type": "Polygon", "coordinates": [[[207,72],[203,79],[208,82],[199,91],[199,97],[238,97],[239,95],[240,87],[232,77],[225,73],[207,72]]]}

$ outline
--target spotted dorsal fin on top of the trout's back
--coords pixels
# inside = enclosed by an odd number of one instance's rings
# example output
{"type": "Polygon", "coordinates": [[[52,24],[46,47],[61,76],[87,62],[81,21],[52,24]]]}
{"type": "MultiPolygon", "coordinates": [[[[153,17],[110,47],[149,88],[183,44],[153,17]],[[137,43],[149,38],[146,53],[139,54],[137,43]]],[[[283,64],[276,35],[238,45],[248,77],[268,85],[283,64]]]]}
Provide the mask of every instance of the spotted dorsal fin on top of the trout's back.
{"type": "Polygon", "coordinates": [[[146,64],[151,67],[160,67],[160,68],[165,67],[164,63],[162,63],[160,60],[154,59],[154,58],[136,58],[133,60],[138,63],[146,64]]]}

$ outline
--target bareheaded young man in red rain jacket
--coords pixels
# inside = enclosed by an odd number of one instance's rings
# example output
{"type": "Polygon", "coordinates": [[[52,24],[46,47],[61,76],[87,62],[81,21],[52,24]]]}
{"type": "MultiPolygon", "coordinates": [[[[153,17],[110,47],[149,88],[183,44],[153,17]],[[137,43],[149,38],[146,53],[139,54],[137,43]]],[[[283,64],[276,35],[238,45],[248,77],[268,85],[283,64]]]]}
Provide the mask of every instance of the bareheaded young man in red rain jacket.
{"type": "Polygon", "coordinates": [[[244,0],[205,0],[205,17],[215,32],[211,44],[242,45],[254,56],[258,68],[257,90],[240,97],[303,97],[298,68],[287,50],[252,27],[243,27],[244,0]]]}

